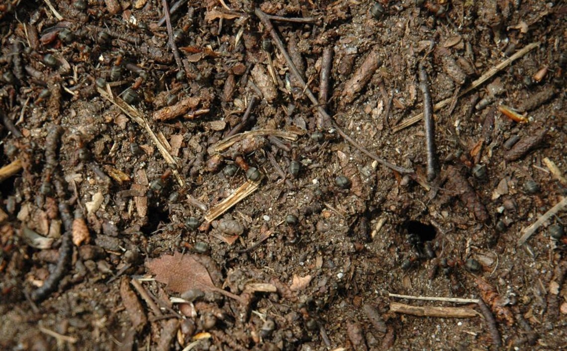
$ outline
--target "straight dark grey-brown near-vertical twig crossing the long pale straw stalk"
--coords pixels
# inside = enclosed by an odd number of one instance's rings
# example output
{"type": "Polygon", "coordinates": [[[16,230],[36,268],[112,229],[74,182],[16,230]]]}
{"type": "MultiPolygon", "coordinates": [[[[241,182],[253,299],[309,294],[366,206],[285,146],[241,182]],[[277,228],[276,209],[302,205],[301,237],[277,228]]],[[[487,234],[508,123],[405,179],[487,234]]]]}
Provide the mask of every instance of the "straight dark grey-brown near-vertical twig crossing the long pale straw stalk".
{"type": "Polygon", "coordinates": [[[437,175],[437,153],[435,152],[435,121],[433,120],[433,103],[429,91],[429,80],[425,66],[420,64],[420,89],[424,95],[425,146],[427,153],[427,180],[437,175]]]}

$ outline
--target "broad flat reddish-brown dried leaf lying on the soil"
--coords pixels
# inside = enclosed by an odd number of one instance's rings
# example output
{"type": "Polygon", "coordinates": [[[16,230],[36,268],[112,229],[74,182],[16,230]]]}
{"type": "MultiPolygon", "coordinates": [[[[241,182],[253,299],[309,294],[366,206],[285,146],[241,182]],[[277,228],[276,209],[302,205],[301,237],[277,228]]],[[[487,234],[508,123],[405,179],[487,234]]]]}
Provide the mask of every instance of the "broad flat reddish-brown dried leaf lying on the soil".
{"type": "Polygon", "coordinates": [[[218,291],[214,286],[209,272],[204,265],[198,263],[192,255],[175,252],[174,256],[164,255],[159,259],[146,263],[155,280],[167,285],[176,293],[190,289],[203,291],[218,291]]]}

